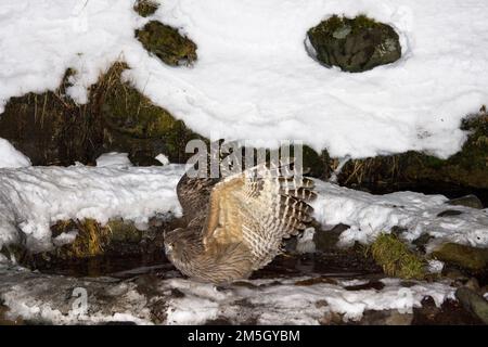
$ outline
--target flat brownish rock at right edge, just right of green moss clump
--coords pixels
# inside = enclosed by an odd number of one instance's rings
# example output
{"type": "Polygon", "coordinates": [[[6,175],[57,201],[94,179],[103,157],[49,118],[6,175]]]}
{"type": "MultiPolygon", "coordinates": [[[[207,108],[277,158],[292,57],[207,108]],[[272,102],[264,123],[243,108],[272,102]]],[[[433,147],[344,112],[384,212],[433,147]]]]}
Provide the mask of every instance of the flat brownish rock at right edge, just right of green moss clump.
{"type": "Polygon", "coordinates": [[[432,256],[470,270],[481,270],[488,262],[488,249],[455,243],[441,244],[432,252],[432,256]]]}

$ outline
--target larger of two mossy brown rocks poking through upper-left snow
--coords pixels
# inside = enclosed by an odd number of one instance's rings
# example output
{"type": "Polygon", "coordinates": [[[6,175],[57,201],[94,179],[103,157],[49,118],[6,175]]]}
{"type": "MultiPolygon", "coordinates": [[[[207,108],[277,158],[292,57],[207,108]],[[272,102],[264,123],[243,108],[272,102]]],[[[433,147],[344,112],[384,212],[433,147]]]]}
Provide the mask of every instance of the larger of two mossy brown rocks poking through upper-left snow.
{"type": "Polygon", "coordinates": [[[151,21],[136,37],[150,53],[171,66],[190,65],[196,61],[196,44],[169,25],[151,21]]]}

